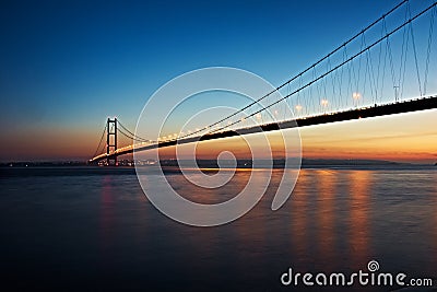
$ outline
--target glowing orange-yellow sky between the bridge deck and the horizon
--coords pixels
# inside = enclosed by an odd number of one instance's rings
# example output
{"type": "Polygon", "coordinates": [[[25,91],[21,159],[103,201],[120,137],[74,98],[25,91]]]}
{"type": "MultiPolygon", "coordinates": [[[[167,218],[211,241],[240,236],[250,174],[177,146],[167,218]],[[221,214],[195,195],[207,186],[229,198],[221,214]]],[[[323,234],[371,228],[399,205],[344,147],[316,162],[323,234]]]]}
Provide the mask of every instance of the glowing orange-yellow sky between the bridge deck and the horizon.
{"type": "MultiPolygon", "coordinates": [[[[427,110],[300,128],[303,157],[435,163],[437,130],[429,126],[437,124],[436,113],[427,110]]],[[[268,137],[272,155],[283,157],[280,135],[270,132],[268,137]]],[[[201,142],[198,157],[215,159],[221,151],[228,150],[238,159],[250,159],[250,152],[241,147],[241,140],[227,138],[201,142]]],[[[162,149],[160,152],[166,156],[172,151],[162,149]]]]}

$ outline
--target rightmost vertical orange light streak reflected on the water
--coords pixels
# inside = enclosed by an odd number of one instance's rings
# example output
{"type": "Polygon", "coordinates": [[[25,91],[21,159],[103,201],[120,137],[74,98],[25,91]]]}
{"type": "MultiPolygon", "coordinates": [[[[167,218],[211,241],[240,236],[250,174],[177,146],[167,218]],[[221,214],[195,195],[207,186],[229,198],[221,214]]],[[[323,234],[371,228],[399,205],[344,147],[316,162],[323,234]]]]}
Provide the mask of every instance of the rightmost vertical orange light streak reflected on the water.
{"type": "Polygon", "coordinates": [[[351,194],[349,242],[351,258],[357,264],[365,264],[369,259],[370,178],[370,172],[367,171],[351,171],[349,174],[351,194]]]}

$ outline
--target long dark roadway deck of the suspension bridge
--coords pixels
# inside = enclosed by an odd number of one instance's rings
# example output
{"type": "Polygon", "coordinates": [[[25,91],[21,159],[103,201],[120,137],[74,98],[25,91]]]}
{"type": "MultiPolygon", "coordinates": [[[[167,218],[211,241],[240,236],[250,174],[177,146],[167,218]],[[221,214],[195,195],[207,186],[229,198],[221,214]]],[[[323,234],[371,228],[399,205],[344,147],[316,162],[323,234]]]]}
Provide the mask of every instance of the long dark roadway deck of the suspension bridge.
{"type": "MultiPolygon", "coordinates": [[[[176,144],[186,144],[186,143],[192,143],[196,141],[208,141],[208,140],[214,140],[214,139],[221,139],[221,138],[235,137],[235,136],[240,136],[240,135],[249,135],[249,133],[257,133],[257,132],[263,132],[263,131],[275,131],[275,130],[291,129],[291,128],[296,128],[296,127],[307,127],[307,126],[329,124],[329,122],[335,122],[335,121],[387,116],[387,115],[410,113],[410,112],[417,112],[417,110],[425,110],[425,109],[433,109],[433,108],[437,108],[437,96],[432,96],[432,97],[426,97],[426,98],[421,98],[421,100],[413,100],[413,101],[408,101],[408,102],[393,103],[393,104],[379,105],[379,106],[355,108],[355,109],[332,113],[332,114],[324,114],[324,115],[312,116],[312,117],[306,117],[306,118],[297,118],[297,119],[293,119],[293,120],[265,124],[265,125],[253,126],[253,127],[248,127],[248,128],[238,129],[238,130],[226,130],[226,131],[221,131],[221,132],[215,132],[215,133],[203,135],[201,137],[184,138],[184,139],[177,140],[177,141],[176,140],[165,141],[165,142],[160,142],[156,144],[137,147],[135,151],[144,151],[144,150],[151,150],[151,149],[156,149],[156,148],[165,148],[165,147],[172,147],[172,145],[176,145],[176,144]]],[[[120,151],[113,155],[101,157],[99,160],[106,160],[107,157],[125,155],[125,154],[129,154],[132,152],[133,152],[133,149],[129,149],[126,151],[120,151]]],[[[95,160],[93,162],[97,162],[97,161],[98,160],[95,160]]]]}

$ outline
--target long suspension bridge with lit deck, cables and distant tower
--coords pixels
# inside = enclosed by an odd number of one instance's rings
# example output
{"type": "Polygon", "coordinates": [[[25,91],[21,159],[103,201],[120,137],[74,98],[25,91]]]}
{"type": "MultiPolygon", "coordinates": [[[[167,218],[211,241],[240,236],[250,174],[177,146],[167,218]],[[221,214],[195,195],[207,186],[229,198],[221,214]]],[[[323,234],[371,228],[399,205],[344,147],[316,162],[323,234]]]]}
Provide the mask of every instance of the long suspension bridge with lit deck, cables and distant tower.
{"type": "Polygon", "coordinates": [[[108,118],[88,163],[117,165],[133,151],[437,108],[437,2],[412,2],[401,1],[274,91],[192,131],[147,139],[108,118]],[[119,135],[128,139],[123,147],[119,135]]]}

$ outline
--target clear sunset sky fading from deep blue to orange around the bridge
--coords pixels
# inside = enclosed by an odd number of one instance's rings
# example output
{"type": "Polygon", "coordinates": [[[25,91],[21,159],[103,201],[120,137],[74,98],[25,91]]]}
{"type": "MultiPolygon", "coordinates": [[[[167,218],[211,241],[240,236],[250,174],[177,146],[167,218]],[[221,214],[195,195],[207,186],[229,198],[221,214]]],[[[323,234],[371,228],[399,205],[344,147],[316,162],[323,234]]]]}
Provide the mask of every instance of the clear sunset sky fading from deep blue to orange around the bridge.
{"type": "MultiPolygon", "coordinates": [[[[0,162],[87,160],[108,116],[133,130],[147,98],[194,69],[235,67],[280,85],[397,3],[9,1],[0,10],[0,162]]],[[[435,163],[436,114],[304,128],[303,153],[435,163]]]]}

